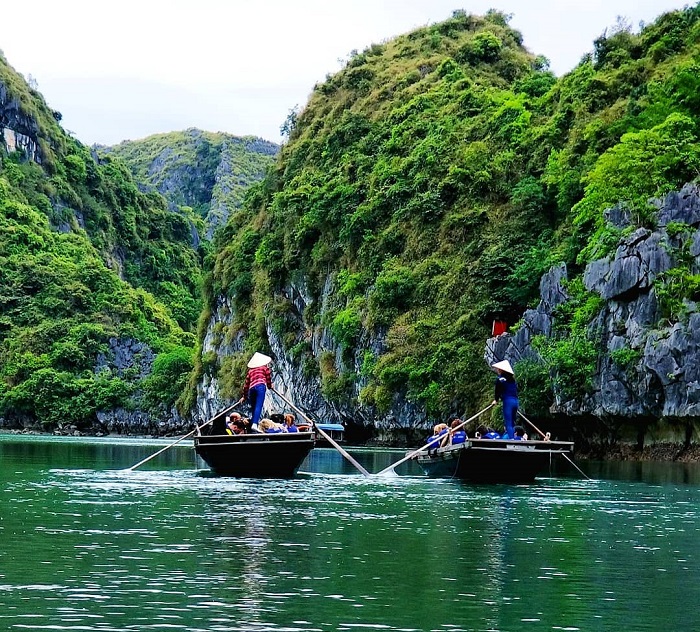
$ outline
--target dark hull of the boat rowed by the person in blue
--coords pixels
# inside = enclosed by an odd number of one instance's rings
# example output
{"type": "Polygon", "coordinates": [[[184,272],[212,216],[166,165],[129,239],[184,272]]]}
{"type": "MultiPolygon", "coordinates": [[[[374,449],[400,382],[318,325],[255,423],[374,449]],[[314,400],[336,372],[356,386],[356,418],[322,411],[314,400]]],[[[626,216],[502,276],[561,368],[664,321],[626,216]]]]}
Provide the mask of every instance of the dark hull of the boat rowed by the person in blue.
{"type": "Polygon", "coordinates": [[[481,483],[529,483],[549,470],[557,455],[568,455],[573,448],[570,441],[467,439],[419,454],[416,461],[428,476],[481,483]]]}

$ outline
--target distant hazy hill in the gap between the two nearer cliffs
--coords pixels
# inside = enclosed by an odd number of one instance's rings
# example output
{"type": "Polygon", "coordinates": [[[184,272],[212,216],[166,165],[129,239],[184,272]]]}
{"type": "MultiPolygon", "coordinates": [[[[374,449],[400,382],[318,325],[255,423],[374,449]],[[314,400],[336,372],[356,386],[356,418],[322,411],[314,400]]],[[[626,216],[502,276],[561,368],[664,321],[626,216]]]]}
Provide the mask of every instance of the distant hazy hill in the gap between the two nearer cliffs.
{"type": "Polygon", "coordinates": [[[246,189],[262,180],[280,147],[254,136],[190,128],[96,149],[119,156],[139,187],[158,191],[170,210],[192,208],[211,239],[241,207],[246,189]]]}

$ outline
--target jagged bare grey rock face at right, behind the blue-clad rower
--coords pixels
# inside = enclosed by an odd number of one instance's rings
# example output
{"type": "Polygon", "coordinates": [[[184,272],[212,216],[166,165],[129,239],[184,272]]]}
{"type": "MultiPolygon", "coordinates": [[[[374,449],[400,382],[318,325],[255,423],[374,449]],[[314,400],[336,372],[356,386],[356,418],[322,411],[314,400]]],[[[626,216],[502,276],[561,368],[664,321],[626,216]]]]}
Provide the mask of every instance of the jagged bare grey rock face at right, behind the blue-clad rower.
{"type": "MultiPolygon", "coordinates": [[[[646,435],[651,441],[688,443],[700,420],[698,306],[682,299],[680,313],[668,318],[655,284],[681,263],[690,275],[700,272],[700,187],[686,185],[658,206],[654,230],[634,230],[614,255],[587,266],[586,288],[605,299],[589,325],[599,351],[593,388],[575,399],[555,392],[552,412],[578,418],[582,432],[582,420],[588,420],[588,429],[591,422],[599,424],[602,440],[630,435],[642,443],[646,435]]],[[[629,226],[629,216],[619,208],[608,211],[606,219],[623,230],[629,226]]],[[[488,341],[487,361],[541,360],[532,339],[550,335],[557,306],[568,300],[566,279],[564,266],[542,278],[537,309],[524,314],[516,333],[488,341]]]]}

